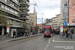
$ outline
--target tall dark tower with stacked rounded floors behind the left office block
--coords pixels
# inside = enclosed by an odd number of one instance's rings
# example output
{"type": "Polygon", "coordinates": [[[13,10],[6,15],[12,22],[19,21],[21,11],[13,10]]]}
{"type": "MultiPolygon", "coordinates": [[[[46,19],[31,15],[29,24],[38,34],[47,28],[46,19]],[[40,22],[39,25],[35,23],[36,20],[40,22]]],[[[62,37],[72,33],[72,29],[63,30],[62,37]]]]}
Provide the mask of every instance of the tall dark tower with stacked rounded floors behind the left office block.
{"type": "Polygon", "coordinates": [[[28,16],[28,11],[29,11],[29,0],[19,0],[19,3],[20,3],[20,12],[19,12],[19,15],[20,15],[20,19],[23,20],[23,21],[26,21],[26,17],[28,16]]]}

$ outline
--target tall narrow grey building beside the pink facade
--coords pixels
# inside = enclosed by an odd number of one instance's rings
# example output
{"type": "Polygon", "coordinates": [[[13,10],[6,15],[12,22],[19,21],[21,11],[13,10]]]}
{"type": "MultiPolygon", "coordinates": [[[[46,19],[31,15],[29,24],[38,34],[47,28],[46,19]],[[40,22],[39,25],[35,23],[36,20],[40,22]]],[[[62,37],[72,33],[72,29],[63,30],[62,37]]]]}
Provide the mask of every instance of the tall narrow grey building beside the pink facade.
{"type": "Polygon", "coordinates": [[[68,23],[68,0],[61,0],[61,24],[68,23]]]}

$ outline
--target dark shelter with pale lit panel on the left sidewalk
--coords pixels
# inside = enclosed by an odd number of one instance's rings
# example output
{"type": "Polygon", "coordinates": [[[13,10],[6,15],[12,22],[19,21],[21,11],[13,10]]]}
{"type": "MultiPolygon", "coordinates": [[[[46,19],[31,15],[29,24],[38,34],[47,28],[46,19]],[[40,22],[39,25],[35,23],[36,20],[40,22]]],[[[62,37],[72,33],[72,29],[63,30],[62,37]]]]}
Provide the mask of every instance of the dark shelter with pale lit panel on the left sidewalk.
{"type": "Polygon", "coordinates": [[[13,37],[13,32],[15,31],[16,37],[23,36],[24,34],[22,33],[25,31],[25,28],[22,27],[11,27],[10,28],[10,36],[13,37]]]}

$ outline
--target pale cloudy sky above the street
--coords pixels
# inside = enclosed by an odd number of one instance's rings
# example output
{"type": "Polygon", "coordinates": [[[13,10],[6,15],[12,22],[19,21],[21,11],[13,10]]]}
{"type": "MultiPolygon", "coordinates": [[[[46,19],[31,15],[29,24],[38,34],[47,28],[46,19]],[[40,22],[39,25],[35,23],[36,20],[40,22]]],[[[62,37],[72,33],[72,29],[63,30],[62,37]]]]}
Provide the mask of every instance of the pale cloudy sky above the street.
{"type": "Polygon", "coordinates": [[[45,22],[45,19],[51,19],[60,14],[60,0],[30,0],[29,13],[33,13],[34,4],[37,12],[37,24],[45,22]],[[42,14],[43,13],[43,14],[42,14]]]}

